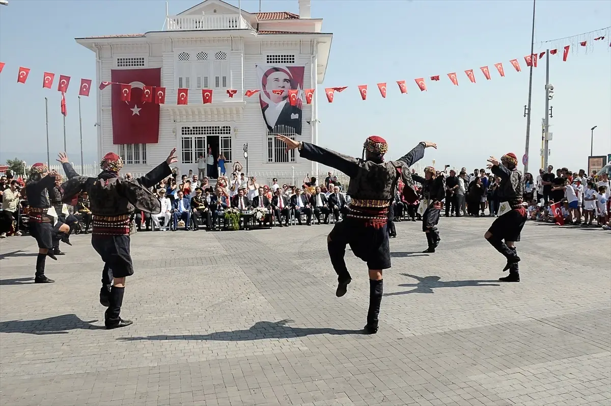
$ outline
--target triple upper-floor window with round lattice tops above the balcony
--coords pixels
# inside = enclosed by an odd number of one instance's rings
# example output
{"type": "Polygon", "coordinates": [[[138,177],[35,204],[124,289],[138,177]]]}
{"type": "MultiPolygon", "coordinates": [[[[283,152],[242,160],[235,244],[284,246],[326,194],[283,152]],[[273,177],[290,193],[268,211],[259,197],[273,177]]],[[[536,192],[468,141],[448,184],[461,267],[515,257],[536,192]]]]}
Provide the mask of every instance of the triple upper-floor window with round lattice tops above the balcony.
{"type": "Polygon", "coordinates": [[[178,54],[176,76],[178,87],[188,89],[227,89],[229,83],[229,60],[225,51],[209,54],[200,51],[191,61],[191,54],[178,54]],[[193,87],[192,87],[193,86],[193,87]]]}

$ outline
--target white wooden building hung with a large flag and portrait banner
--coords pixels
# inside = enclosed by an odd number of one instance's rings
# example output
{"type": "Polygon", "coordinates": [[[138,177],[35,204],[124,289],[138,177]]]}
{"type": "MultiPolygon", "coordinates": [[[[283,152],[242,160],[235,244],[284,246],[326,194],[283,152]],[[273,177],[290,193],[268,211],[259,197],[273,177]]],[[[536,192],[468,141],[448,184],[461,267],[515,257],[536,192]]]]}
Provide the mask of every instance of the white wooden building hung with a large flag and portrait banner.
{"type": "Polygon", "coordinates": [[[310,0],[290,1],[299,2],[299,15],[249,13],[221,0],[205,0],[178,15],[166,16],[163,31],[77,38],[76,42],[95,52],[98,84],[111,81],[113,70],[161,68],[161,87],[166,88],[165,103],[159,106],[158,142],[148,144],[115,144],[111,87],[97,90],[99,158],[116,152],[125,161],[124,171],[146,172],[175,146],[180,173],[189,169],[197,173],[199,154],[205,155],[211,146],[215,155],[225,155],[229,173],[235,161],[246,169],[243,154],[247,144],[249,172],[318,173],[316,164],[302,160],[298,153],[285,154],[272,138],[274,132],[282,131],[300,141],[316,142],[318,100],[325,98],[324,89],[317,87],[323,83],[332,34],[321,32],[323,21],[310,17],[310,0]],[[270,66],[279,67],[274,72],[281,73],[275,76],[285,78],[285,89],[316,89],[312,104],[305,102],[300,91],[299,111],[281,119],[288,101],[272,101],[269,107],[276,106],[276,114],[269,108],[264,120],[265,101],[277,98],[269,97],[273,87],[263,92],[262,81],[269,86],[272,76],[261,76],[268,75],[270,66]],[[302,72],[302,78],[291,76],[294,72],[302,72]],[[188,105],[177,105],[179,88],[189,89],[188,105]],[[201,89],[213,89],[212,103],[203,103],[201,89]],[[233,97],[229,89],[236,90],[233,97]],[[252,97],[244,95],[246,90],[259,89],[262,91],[252,97]],[[265,97],[263,102],[260,96],[265,97]],[[270,127],[274,119],[276,124],[270,127]]]}

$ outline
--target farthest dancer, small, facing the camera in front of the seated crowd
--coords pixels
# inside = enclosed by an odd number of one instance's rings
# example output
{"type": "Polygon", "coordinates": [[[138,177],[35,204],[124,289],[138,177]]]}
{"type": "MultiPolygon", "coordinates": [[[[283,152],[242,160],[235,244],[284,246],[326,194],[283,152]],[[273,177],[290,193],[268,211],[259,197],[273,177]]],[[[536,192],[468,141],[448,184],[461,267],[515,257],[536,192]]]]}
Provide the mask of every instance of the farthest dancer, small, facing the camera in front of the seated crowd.
{"type": "Polygon", "coordinates": [[[441,201],[445,198],[445,177],[441,172],[435,176],[435,168],[424,168],[424,177],[412,174],[412,179],[422,184],[422,197],[428,201],[428,206],[422,215],[422,231],[426,234],[428,248],[423,253],[434,253],[441,238],[437,223],[441,214],[441,201]]]}

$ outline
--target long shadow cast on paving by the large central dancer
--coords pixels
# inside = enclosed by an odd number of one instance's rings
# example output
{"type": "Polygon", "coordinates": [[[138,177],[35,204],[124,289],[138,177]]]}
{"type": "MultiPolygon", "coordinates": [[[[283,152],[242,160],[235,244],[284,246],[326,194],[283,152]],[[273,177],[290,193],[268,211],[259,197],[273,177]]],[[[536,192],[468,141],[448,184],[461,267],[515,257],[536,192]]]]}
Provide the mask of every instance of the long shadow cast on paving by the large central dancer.
{"type": "Polygon", "coordinates": [[[159,335],[146,337],[122,337],[119,341],[164,341],[164,340],[202,340],[202,341],[251,341],[269,338],[296,338],[316,334],[363,334],[363,330],[337,330],[335,328],[299,328],[288,327],[293,320],[279,322],[257,322],[248,330],[218,331],[210,334],[185,334],[180,336],[159,335]]]}

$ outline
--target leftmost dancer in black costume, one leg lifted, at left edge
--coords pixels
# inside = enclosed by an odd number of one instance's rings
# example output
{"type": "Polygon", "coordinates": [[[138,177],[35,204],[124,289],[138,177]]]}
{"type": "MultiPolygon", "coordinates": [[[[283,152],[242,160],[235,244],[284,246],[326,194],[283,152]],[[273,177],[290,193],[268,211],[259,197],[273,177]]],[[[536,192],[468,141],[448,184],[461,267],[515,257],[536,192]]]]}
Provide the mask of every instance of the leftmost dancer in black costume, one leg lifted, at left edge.
{"type": "Polygon", "coordinates": [[[53,190],[57,172],[50,171],[43,163],[35,163],[30,169],[26,180],[26,195],[28,207],[29,233],[38,243],[36,258],[35,283],[51,283],[53,279],[45,276],[46,257],[57,260],[53,254],[56,241],[63,239],[68,242],[70,227],[59,221],[57,213],[49,199],[49,190],[53,190]]]}

